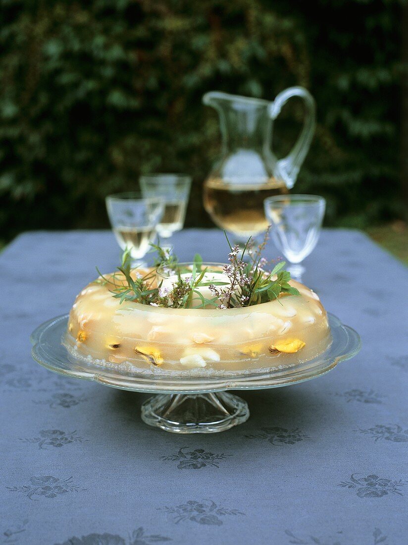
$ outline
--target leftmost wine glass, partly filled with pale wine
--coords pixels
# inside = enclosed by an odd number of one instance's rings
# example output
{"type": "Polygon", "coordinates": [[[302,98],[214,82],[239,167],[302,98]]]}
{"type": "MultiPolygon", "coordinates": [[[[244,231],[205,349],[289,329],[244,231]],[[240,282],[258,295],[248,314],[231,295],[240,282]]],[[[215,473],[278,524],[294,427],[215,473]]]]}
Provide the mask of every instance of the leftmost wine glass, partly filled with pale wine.
{"type": "Polygon", "coordinates": [[[117,193],[106,197],[113,233],[122,250],[130,249],[132,267],[146,267],[141,258],[156,239],[164,203],[160,197],[144,198],[142,193],[117,193]]]}

